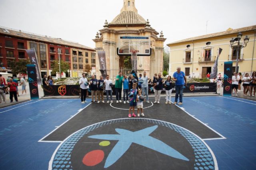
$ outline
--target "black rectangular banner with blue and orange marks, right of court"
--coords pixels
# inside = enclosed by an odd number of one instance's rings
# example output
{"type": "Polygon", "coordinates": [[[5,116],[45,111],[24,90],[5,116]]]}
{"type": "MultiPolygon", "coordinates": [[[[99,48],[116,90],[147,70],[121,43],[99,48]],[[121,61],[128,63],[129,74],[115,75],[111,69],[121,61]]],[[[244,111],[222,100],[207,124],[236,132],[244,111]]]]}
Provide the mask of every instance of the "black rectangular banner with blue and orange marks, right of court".
{"type": "Polygon", "coordinates": [[[224,62],[224,87],[223,87],[223,95],[231,96],[232,93],[232,66],[233,61],[224,62]]]}

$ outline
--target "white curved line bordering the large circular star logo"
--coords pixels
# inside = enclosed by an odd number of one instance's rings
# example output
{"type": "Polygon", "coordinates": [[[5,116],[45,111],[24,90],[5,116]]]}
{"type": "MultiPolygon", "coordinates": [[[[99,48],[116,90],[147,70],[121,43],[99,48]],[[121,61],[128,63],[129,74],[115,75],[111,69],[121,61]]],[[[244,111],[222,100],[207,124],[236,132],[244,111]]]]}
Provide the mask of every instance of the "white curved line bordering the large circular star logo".
{"type": "MultiPolygon", "coordinates": [[[[120,118],[120,119],[138,119],[138,118],[120,118]]],[[[112,120],[107,120],[107,121],[114,121],[114,120],[120,120],[120,119],[112,119],[112,120]]],[[[139,118],[139,119],[147,119],[147,118],[139,118]]],[[[148,119],[148,120],[160,121],[160,120],[157,120],[157,119],[148,119]]],[[[94,124],[89,125],[89,126],[84,127],[84,128],[88,128],[88,127],[90,127],[90,126],[93,126],[93,125],[96,125],[96,124],[99,124],[99,123],[103,123],[103,122],[107,122],[107,121],[102,121],[102,122],[94,123],[94,124]]],[[[166,121],[160,121],[160,122],[170,123],[170,122],[166,122],[166,121]]],[[[174,124],[174,123],[170,123],[170,124],[176,125],[176,124],[174,124]]],[[[176,126],[177,126],[177,127],[180,127],[180,128],[183,128],[183,129],[187,130],[188,132],[194,134],[196,137],[198,137],[198,138],[205,144],[205,146],[208,148],[208,150],[209,150],[210,153],[212,154],[212,158],[213,158],[213,160],[214,160],[214,168],[215,168],[215,170],[218,170],[218,162],[217,162],[217,160],[216,160],[216,157],[215,157],[214,153],[212,152],[212,149],[208,146],[208,144],[204,141],[204,139],[200,138],[197,134],[195,134],[194,132],[191,132],[190,130],[188,130],[188,129],[184,128],[184,127],[181,127],[181,126],[179,126],[179,125],[176,125],[176,126]]],[[[56,148],[56,150],[55,150],[54,153],[52,154],[52,157],[51,157],[51,159],[50,159],[50,161],[49,161],[49,164],[48,164],[48,170],[52,170],[52,162],[53,162],[54,156],[56,155],[56,153],[57,153],[58,149],[60,148],[60,146],[62,146],[62,144],[63,144],[68,138],[70,138],[73,134],[79,132],[80,130],[82,130],[82,129],[84,129],[84,128],[81,128],[81,129],[77,130],[76,132],[70,134],[70,135],[69,135],[67,138],[65,138],[63,141],[61,141],[61,143],[58,145],[58,147],[56,148]]],[[[214,138],[214,139],[220,139],[220,138],[214,138]]],[[[212,140],[212,139],[209,139],[209,140],[212,140]]],[[[48,141],[48,142],[50,142],[50,141],[48,141]]]]}

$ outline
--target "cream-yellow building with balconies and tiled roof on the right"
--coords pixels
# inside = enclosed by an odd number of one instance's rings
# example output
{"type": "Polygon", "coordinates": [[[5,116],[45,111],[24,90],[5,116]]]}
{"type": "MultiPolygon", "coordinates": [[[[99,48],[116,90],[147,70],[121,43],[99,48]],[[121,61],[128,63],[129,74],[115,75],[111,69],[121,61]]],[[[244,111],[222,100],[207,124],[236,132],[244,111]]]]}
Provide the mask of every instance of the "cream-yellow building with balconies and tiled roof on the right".
{"type": "MultiPolygon", "coordinates": [[[[167,44],[170,47],[169,75],[173,75],[180,66],[187,76],[190,74],[191,77],[206,77],[206,74],[211,72],[219,48],[223,50],[218,59],[218,73],[223,75],[225,61],[233,61],[233,70],[235,70],[237,48],[231,48],[230,40],[236,38],[239,32],[243,34],[240,44],[244,44],[245,36],[250,40],[246,47],[238,49],[238,72],[256,70],[256,26],[249,26],[234,30],[229,28],[224,32],[167,44]]],[[[237,47],[236,44],[234,47],[237,47]]]]}

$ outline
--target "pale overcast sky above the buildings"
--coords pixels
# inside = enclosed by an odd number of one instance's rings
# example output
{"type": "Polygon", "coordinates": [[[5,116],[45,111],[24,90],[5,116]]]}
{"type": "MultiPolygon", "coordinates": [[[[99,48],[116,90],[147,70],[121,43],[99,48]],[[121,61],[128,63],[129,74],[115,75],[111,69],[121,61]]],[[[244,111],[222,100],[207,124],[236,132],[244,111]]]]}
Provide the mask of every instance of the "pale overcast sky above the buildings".
{"type": "MultiPolygon", "coordinates": [[[[123,0],[0,0],[0,26],[95,47],[92,39],[111,22],[123,0]]],[[[256,0],[135,0],[167,43],[256,25],[256,0]]]]}

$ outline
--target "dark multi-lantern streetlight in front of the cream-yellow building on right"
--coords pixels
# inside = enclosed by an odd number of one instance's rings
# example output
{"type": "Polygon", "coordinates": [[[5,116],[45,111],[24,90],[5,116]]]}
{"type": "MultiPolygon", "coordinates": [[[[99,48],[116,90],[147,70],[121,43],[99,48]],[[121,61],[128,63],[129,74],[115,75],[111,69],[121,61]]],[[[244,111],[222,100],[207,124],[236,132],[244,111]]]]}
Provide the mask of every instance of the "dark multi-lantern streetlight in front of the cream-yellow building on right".
{"type": "Polygon", "coordinates": [[[240,45],[240,40],[242,38],[242,35],[243,34],[240,32],[240,33],[237,34],[237,38],[235,38],[235,39],[232,38],[230,40],[231,48],[232,49],[237,48],[237,51],[236,51],[236,73],[238,73],[238,53],[239,53],[240,49],[242,49],[243,47],[246,47],[246,45],[247,45],[247,43],[249,42],[249,39],[250,39],[248,36],[245,36],[245,38],[244,38],[244,45],[240,45]],[[237,43],[237,47],[233,46],[234,42],[237,43]]]}

